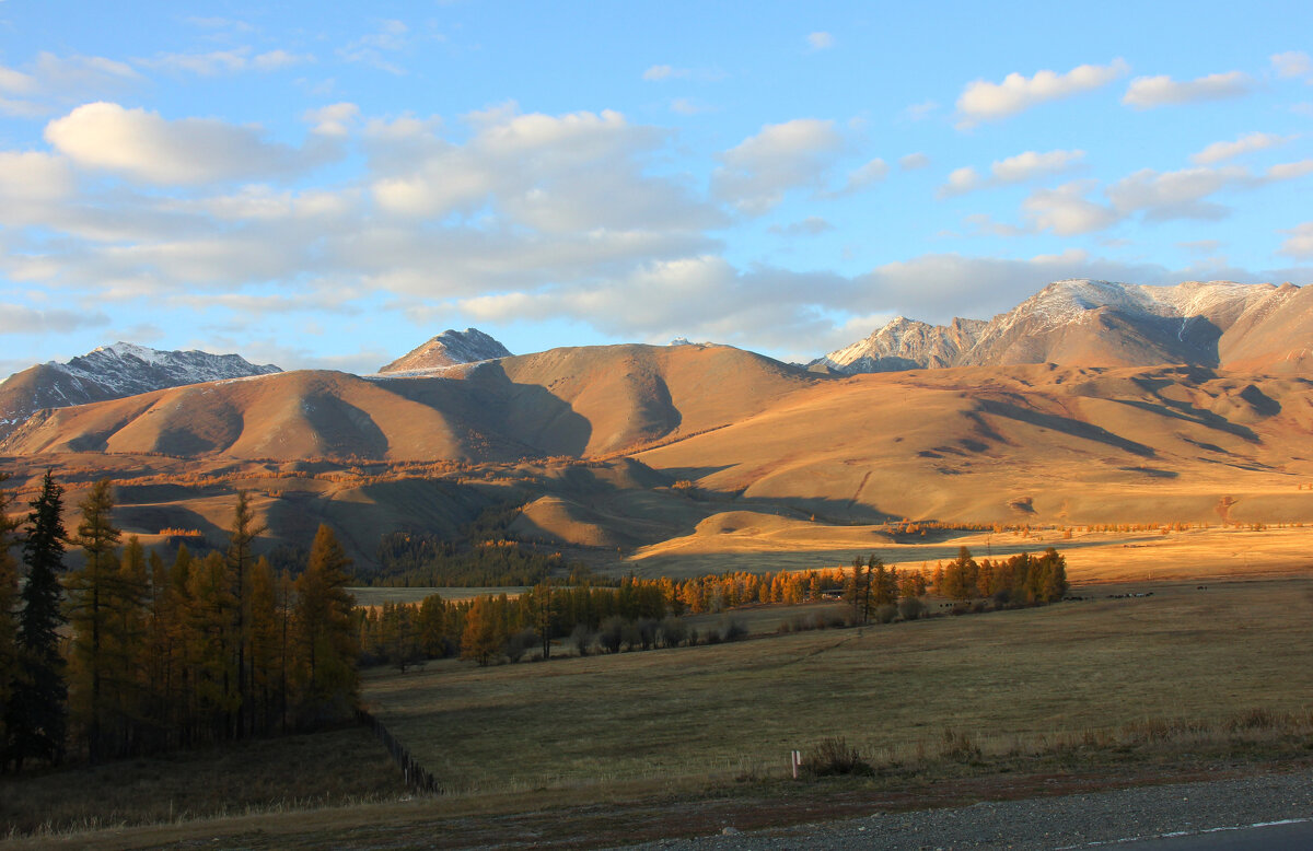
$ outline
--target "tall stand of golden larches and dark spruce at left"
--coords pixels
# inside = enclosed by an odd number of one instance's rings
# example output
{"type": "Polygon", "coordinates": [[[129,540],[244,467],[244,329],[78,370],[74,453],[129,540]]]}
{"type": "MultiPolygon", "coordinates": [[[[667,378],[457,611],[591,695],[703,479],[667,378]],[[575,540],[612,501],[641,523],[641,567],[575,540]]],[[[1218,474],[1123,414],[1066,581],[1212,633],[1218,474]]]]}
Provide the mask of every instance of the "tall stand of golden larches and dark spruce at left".
{"type": "Polygon", "coordinates": [[[110,521],[96,482],[68,533],[50,471],[11,520],[0,491],[0,770],[269,735],[349,717],[357,696],[351,561],[320,525],[303,570],[252,552],[238,494],[227,546],[171,563],[110,521]],[[21,566],[12,556],[21,545],[21,566]],[[68,570],[67,546],[83,565],[68,570]],[[25,574],[25,580],[20,574],[25,574]]]}

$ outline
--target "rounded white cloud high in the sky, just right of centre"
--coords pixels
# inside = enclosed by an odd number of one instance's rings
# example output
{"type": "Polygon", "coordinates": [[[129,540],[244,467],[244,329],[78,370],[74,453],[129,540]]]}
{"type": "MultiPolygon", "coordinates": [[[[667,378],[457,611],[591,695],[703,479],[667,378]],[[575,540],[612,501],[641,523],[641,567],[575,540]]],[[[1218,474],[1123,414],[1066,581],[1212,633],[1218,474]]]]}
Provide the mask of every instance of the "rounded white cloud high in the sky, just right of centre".
{"type": "Polygon", "coordinates": [[[721,154],[712,190],[743,213],[758,215],[784,200],[785,192],[818,188],[830,159],[843,147],[832,121],[796,118],[767,125],[721,154]]]}

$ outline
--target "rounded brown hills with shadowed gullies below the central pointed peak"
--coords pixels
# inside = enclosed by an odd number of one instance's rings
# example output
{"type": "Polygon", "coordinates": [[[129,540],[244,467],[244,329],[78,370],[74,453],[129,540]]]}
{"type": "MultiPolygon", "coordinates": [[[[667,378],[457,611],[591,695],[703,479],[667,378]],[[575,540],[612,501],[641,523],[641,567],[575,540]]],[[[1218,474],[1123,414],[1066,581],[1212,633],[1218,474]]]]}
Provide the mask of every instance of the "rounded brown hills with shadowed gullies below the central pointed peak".
{"type": "Polygon", "coordinates": [[[442,374],[291,372],[43,411],[0,452],[512,461],[718,428],[814,376],[723,345],[551,349],[442,374]]]}

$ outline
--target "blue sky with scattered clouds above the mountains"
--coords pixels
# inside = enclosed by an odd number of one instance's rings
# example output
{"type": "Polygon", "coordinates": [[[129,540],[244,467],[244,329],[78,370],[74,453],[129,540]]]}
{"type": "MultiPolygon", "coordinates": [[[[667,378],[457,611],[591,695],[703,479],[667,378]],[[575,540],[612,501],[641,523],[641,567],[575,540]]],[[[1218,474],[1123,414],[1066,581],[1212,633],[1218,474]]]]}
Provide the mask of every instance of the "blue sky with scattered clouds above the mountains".
{"type": "Polygon", "coordinates": [[[1313,4],[0,0],[0,374],[1313,281],[1313,4]],[[184,8],[185,7],[185,8],[184,8]]]}

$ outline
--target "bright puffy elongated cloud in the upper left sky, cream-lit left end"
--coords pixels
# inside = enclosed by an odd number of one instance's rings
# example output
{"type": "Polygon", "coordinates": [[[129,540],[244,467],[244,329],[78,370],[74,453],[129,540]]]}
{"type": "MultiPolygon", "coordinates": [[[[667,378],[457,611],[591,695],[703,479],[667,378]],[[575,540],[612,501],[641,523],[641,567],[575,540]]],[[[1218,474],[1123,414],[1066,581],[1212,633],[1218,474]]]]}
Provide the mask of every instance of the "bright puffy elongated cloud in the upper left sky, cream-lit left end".
{"type": "Polygon", "coordinates": [[[282,173],[303,154],[265,142],[257,130],[213,118],[169,121],[144,109],[96,102],[46,126],[46,141],[83,168],[152,184],[200,184],[282,173]]]}

